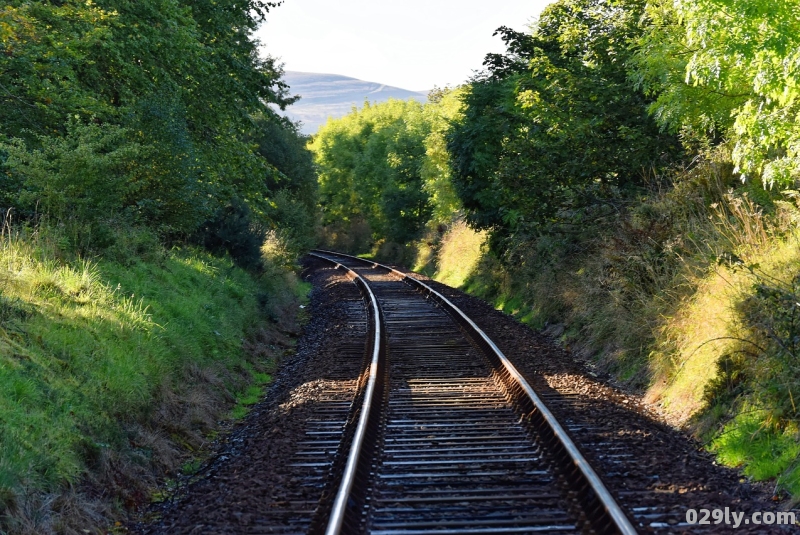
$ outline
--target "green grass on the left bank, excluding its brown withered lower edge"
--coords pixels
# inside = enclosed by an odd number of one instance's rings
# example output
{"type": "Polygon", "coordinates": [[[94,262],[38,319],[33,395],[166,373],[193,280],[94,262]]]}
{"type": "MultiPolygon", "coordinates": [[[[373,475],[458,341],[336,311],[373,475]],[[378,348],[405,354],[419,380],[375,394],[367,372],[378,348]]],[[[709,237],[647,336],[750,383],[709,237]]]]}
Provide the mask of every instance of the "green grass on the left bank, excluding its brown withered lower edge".
{"type": "Polygon", "coordinates": [[[214,370],[214,388],[233,395],[250,376],[240,406],[271,380],[242,350],[265,286],[230,260],[192,249],[70,259],[50,238],[0,244],[0,513],[131,450],[131,427],[149,425],[191,373],[214,370]]]}

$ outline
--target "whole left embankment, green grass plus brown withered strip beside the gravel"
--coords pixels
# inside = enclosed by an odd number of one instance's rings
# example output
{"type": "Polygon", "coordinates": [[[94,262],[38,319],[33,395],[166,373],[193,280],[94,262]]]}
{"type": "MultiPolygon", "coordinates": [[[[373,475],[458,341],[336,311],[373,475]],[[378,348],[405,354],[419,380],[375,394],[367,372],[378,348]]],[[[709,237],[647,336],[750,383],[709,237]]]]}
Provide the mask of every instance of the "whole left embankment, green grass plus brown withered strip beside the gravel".
{"type": "Polygon", "coordinates": [[[306,290],[126,231],[96,260],[0,241],[0,531],[99,532],[241,417],[306,290]]]}

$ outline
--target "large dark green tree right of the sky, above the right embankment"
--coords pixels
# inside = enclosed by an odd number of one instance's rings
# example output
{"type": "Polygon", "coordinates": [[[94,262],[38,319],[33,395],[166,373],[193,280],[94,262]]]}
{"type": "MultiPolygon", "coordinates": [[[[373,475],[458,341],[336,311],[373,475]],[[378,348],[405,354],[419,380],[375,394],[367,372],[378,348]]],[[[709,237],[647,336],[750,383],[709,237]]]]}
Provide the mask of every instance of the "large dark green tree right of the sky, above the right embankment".
{"type": "Polygon", "coordinates": [[[464,96],[449,149],[453,181],[477,228],[500,234],[614,211],[618,189],[678,155],[628,81],[643,2],[561,0],[531,35],[500,28],[508,52],[464,96]]]}

